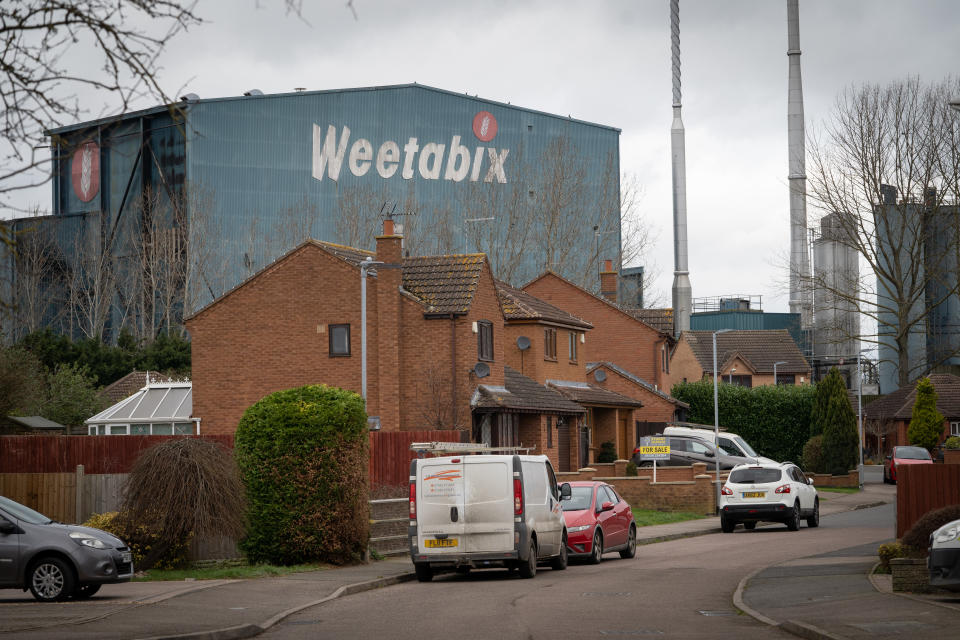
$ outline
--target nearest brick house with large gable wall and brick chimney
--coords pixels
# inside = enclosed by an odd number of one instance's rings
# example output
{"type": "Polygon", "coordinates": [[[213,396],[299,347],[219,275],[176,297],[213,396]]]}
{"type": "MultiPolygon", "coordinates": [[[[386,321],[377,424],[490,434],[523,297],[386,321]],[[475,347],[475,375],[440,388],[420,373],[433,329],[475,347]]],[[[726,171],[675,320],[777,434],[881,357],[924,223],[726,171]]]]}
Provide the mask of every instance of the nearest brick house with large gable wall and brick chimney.
{"type": "Polygon", "coordinates": [[[512,446],[532,442],[531,425],[546,423],[522,421],[524,412],[555,419],[582,411],[555,392],[539,404],[481,402],[485,389],[510,382],[489,261],[404,257],[402,242],[390,220],[375,253],[308,240],[188,318],[200,432],[232,434],[247,407],[281,389],[326,383],[361,392],[366,260],[367,413],[380,428],[469,430],[512,446]]]}

